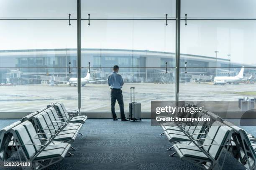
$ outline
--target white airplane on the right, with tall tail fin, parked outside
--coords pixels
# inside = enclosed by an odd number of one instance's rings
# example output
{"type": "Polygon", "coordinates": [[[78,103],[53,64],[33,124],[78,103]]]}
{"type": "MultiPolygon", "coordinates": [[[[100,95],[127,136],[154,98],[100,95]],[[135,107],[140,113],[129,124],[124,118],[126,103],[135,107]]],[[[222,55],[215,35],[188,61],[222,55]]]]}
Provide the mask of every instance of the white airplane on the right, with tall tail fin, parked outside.
{"type": "Polygon", "coordinates": [[[231,83],[233,82],[234,84],[238,84],[239,82],[243,80],[250,80],[252,75],[250,77],[243,77],[243,71],[244,71],[244,66],[241,68],[240,72],[236,76],[216,76],[214,77],[213,84],[214,85],[225,85],[226,83],[231,83]]]}

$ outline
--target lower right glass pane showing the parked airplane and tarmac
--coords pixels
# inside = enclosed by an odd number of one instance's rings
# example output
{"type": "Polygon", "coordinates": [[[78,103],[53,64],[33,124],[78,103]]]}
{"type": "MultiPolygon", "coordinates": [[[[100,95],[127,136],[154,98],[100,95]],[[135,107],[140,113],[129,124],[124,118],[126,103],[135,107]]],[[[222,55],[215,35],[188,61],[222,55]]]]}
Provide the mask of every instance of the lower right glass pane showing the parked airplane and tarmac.
{"type": "MultiPolygon", "coordinates": [[[[194,70],[202,72],[200,68],[194,70]]],[[[215,69],[207,68],[205,72],[207,74],[202,75],[188,69],[185,74],[182,69],[179,100],[203,107],[235,125],[246,125],[243,128],[254,133],[256,69],[244,68],[240,74],[243,76],[239,76],[241,68],[221,68],[217,76],[211,76],[215,75],[215,69]]]]}

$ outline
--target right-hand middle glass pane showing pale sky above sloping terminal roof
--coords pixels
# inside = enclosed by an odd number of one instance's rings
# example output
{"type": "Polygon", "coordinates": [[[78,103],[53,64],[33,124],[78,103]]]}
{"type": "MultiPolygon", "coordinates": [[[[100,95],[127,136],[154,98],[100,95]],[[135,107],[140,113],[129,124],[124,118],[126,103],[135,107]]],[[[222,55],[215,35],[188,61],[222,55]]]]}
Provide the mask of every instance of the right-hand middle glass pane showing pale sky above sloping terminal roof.
{"type": "Polygon", "coordinates": [[[182,21],[182,57],[188,64],[192,59],[200,62],[211,61],[201,67],[216,67],[216,56],[217,67],[253,67],[256,63],[256,57],[253,57],[255,30],[254,21],[189,20],[187,25],[182,21]]]}

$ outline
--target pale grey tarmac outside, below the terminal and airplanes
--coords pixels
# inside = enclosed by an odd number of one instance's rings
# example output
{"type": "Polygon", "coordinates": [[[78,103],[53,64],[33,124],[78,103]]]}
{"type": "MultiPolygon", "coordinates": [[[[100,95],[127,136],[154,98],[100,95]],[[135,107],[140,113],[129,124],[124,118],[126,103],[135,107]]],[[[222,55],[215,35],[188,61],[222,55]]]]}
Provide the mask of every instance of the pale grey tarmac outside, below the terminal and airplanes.
{"type": "MultiPolygon", "coordinates": [[[[151,110],[151,100],[175,100],[175,84],[125,83],[125,111],[131,102],[130,87],[135,87],[135,102],[142,111],[151,110]]],[[[86,84],[81,87],[81,111],[109,112],[110,88],[106,84],[86,84]]],[[[256,97],[256,84],[213,85],[210,83],[180,83],[179,100],[238,101],[256,97]],[[245,94],[246,95],[243,95],[245,94]]],[[[0,112],[32,112],[51,102],[63,102],[68,109],[77,110],[77,87],[68,85],[0,86],[0,112]]],[[[118,103],[116,110],[119,111],[118,103]]]]}

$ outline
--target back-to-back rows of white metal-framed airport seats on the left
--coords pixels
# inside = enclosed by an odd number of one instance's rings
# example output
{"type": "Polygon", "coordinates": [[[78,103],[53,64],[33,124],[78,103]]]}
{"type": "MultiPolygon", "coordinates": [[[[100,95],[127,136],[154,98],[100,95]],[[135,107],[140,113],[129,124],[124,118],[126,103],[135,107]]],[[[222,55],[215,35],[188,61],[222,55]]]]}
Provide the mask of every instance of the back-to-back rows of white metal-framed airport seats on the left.
{"type": "Polygon", "coordinates": [[[74,156],[69,152],[76,150],[71,144],[82,135],[79,131],[87,120],[78,114],[55,102],[1,129],[0,163],[18,153],[20,161],[29,161],[31,168],[40,170],[66,155],[74,156]]]}

